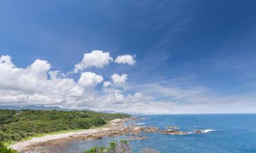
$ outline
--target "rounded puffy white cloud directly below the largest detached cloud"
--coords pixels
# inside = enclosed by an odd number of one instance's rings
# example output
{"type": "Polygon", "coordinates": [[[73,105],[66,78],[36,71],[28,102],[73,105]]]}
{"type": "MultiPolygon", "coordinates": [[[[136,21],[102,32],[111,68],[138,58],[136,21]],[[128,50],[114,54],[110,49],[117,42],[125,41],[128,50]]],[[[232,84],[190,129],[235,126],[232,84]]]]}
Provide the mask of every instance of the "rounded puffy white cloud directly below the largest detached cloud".
{"type": "Polygon", "coordinates": [[[79,78],[79,84],[86,87],[96,86],[100,82],[103,82],[102,76],[92,72],[81,73],[81,77],[79,78]]]}

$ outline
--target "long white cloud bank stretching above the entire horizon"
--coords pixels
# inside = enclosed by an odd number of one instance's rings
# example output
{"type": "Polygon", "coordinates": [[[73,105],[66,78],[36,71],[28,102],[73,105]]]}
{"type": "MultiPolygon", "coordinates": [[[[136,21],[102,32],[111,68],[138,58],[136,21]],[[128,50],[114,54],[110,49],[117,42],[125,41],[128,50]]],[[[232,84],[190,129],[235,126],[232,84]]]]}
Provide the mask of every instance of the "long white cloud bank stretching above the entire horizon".
{"type": "Polygon", "coordinates": [[[114,73],[111,82],[103,82],[102,75],[87,71],[76,81],[60,71],[51,71],[47,61],[37,59],[21,68],[12,63],[10,56],[0,56],[0,105],[52,105],[143,114],[255,112],[255,95],[218,97],[208,88],[188,87],[180,80],[119,88],[126,80],[127,74],[114,73]],[[180,86],[181,82],[185,87],[180,86]]]}

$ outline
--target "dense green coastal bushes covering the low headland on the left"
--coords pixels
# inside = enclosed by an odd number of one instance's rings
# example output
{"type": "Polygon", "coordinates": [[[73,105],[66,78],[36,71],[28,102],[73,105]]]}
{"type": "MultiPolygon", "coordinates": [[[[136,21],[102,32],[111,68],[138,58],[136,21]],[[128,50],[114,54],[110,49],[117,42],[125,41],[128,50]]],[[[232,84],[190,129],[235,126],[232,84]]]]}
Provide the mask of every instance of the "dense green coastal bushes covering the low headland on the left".
{"type": "Polygon", "coordinates": [[[42,133],[90,129],[103,126],[109,120],[129,116],[92,111],[0,109],[0,141],[19,141],[42,133]]]}

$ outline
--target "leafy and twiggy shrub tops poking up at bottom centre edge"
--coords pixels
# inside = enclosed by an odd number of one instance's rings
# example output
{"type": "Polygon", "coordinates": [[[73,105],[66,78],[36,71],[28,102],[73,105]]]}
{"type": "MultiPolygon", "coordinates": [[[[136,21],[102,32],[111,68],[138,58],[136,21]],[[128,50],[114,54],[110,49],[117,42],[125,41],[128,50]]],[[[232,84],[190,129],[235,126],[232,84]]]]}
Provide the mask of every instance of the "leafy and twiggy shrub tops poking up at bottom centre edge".
{"type": "MultiPolygon", "coordinates": [[[[121,140],[119,143],[111,142],[109,147],[101,147],[95,146],[83,153],[132,153],[132,149],[130,148],[130,145],[128,141],[121,140]]],[[[140,151],[140,153],[160,153],[157,150],[154,150],[152,148],[144,148],[140,151]]]]}

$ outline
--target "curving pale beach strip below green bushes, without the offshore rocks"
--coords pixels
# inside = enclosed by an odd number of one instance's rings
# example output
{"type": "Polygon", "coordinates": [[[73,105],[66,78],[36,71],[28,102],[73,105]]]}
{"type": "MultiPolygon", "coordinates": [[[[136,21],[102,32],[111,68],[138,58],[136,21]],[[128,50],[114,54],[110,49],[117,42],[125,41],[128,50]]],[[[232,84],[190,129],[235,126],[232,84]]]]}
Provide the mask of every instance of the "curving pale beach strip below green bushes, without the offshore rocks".
{"type": "Polygon", "coordinates": [[[18,143],[14,143],[8,148],[12,148],[17,150],[18,152],[40,152],[40,150],[44,143],[49,144],[59,144],[65,141],[72,141],[72,139],[100,139],[103,136],[115,136],[122,135],[126,133],[126,126],[124,124],[128,121],[132,120],[132,118],[123,118],[123,119],[115,119],[111,120],[108,124],[95,128],[95,129],[79,129],[77,131],[67,132],[67,133],[57,133],[57,134],[49,134],[42,137],[33,137],[32,139],[20,141],[18,143]],[[35,150],[38,151],[35,151],[35,150]]]}

